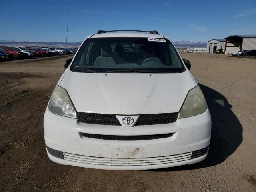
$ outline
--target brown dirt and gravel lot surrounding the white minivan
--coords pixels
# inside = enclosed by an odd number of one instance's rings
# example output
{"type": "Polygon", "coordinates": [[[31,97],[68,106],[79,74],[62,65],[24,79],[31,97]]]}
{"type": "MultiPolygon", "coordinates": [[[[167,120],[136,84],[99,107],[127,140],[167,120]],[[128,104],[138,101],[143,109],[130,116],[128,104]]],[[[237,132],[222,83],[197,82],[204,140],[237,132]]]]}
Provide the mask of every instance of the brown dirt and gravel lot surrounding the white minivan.
{"type": "Polygon", "coordinates": [[[148,171],[94,170],[51,162],[43,115],[67,56],[0,63],[0,192],[256,191],[256,59],[182,54],[212,114],[199,164],[148,171]]]}

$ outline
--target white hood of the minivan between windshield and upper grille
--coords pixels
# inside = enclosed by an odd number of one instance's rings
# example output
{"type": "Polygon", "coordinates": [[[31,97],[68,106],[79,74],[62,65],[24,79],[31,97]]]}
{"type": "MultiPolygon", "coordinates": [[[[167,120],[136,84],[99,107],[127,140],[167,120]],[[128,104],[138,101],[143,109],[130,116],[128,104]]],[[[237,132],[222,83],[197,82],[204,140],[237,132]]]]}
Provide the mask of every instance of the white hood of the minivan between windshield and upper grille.
{"type": "Polygon", "coordinates": [[[188,70],[172,74],[79,73],[67,69],[59,84],[77,112],[154,114],[178,112],[197,84],[188,70]]]}

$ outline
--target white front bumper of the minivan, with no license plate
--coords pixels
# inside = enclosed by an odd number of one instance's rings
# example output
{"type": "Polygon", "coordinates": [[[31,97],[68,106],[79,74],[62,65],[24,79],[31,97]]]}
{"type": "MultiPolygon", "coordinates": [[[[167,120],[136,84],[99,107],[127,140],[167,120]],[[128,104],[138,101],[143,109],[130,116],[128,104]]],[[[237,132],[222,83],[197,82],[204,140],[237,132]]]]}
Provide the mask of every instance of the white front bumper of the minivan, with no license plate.
{"type": "Polygon", "coordinates": [[[44,138],[49,158],[60,164],[88,168],[140,170],[194,164],[206,158],[210,132],[211,116],[208,109],[202,114],[177,119],[171,124],[130,128],[85,124],[54,114],[48,108],[44,114],[44,138]],[[86,138],[81,133],[174,134],[154,140],[116,141],[86,138]],[[61,153],[63,158],[59,156],[61,153]]]}

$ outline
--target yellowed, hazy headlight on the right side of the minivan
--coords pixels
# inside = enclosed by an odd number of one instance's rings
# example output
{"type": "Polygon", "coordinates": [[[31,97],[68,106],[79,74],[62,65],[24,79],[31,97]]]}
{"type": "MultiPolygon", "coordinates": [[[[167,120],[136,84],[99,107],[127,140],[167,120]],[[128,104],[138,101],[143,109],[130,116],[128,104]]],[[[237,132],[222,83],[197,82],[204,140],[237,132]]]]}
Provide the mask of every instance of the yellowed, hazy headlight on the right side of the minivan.
{"type": "Polygon", "coordinates": [[[207,109],[207,104],[199,86],[191,89],[180,108],[178,118],[191,117],[201,114],[207,109]]]}

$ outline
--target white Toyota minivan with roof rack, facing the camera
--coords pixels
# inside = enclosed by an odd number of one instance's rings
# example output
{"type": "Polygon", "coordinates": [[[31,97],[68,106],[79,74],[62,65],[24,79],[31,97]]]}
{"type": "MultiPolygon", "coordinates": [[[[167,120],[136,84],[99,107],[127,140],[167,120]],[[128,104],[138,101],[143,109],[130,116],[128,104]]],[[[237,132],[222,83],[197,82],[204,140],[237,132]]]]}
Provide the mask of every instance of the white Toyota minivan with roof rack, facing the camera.
{"type": "Polygon", "coordinates": [[[115,170],[204,160],[211,115],[190,67],[157,31],[88,36],[66,60],[44,114],[49,158],[115,170]]]}

